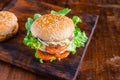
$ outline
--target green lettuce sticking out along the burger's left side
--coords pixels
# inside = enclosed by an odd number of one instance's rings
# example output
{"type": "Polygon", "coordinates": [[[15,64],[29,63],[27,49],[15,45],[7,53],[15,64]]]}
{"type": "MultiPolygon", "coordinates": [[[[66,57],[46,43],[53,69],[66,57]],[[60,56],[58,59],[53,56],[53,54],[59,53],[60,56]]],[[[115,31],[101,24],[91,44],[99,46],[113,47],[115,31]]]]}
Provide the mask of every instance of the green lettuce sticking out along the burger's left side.
{"type": "Polygon", "coordinates": [[[27,35],[25,36],[24,40],[23,40],[23,43],[27,46],[29,46],[30,48],[32,49],[35,49],[37,50],[39,47],[42,46],[42,43],[35,37],[32,36],[31,34],[31,25],[32,23],[38,19],[41,15],[40,14],[35,14],[34,15],[34,18],[28,18],[27,19],[27,22],[25,24],[25,27],[27,29],[27,35]]]}

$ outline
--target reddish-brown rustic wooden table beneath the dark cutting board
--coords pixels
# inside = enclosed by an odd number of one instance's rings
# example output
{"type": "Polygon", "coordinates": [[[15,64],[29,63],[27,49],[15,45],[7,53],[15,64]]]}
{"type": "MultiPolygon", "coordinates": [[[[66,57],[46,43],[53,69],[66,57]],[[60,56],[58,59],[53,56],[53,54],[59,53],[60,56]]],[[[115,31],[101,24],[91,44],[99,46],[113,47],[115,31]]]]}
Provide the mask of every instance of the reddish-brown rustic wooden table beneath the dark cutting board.
{"type": "MultiPolygon", "coordinates": [[[[2,10],[11,0],[0,1],[2,10]]],[[[99,21],[77,80],[120,80],[120,0],[39,0],[80,13],[99,15],[99,21]]],[[[0,80],[49,80],[0,61],[0,80]]],[[[53,79],[54,80],[54,79],[53,79]]]]}

